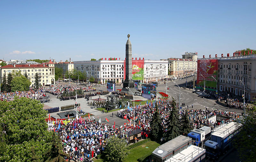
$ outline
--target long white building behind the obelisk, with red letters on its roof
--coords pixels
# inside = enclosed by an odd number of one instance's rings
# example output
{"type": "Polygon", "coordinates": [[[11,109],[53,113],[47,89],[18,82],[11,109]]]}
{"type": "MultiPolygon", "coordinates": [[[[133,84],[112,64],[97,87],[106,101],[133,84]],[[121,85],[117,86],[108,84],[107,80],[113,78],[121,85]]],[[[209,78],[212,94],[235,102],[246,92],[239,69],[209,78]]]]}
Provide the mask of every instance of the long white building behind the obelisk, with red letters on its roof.
{"type": "MultiPolygon", "coordinates": [[[[74,69],[87,73],[95,82],[124,81],[124,60],[74,61],[74,69]]],[[[168,61],[144,60],[144,83],[168,77],[168,61]]]]}

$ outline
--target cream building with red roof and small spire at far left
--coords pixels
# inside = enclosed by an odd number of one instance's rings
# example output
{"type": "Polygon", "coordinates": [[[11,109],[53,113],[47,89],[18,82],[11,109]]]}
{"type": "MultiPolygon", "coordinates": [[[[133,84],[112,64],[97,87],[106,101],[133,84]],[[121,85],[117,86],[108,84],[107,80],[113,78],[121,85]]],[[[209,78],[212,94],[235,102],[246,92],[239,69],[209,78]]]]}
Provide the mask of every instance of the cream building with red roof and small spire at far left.
{"type": "Polygon", "coordinates": [[[35,84],[36,73],[39,75],[39,85],[45,86],[49,84],[55,84],[54,63],[52,60],[44,64],[6,65],[0,67],[0,75],[3,77],[5,73],[7,76],[9,73],[12,73],[13,70],[19,70],[22,75],[25,75],[27,72],[28,79],[31,81],[31,86],[34,86],[35,84]]]}

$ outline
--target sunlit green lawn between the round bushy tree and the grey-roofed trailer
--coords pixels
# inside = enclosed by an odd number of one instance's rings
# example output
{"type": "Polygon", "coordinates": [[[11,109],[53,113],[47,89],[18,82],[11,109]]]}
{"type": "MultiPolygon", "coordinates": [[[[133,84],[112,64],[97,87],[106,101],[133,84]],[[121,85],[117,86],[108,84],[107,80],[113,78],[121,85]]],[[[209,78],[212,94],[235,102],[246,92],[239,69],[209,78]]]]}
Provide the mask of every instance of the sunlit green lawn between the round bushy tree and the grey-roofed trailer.
{"type": "MultiPolygon", "coordinates": [[[[142,157],[145,154],[148,154],[149,152],[153,152],[156,147],[160,146],[160,144],[154,142],[154,141],[148,141],[145,144],[141,144],[137,147],[134,147],[132,149],[130,149],[130,154],[128,155],[127,158],[124,159],[124,161],[126,162],[133,162],[133,161],[137,161],[138,158],[142,157]],[[148,148],[146,148],[148,147],[148,148]]],[[[102,159],[96,159],[93,158],[94,162],[105,162],[105,160],[102,159]]]]}

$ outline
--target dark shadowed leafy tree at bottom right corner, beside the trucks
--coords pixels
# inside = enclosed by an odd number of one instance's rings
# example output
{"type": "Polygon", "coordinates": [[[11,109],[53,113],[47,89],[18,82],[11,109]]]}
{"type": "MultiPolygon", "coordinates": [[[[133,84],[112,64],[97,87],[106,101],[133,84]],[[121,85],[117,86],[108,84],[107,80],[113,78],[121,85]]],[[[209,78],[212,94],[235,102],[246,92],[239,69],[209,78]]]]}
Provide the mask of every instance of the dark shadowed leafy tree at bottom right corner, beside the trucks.
{"type": "Polygon", "coordinates": [[[241,129],[236,134],[233,144],[241,161],[254,162],[256,159],[256,114],[251,110],[245,117],[239,117],[237,121],[236,126],[241,129]]]}

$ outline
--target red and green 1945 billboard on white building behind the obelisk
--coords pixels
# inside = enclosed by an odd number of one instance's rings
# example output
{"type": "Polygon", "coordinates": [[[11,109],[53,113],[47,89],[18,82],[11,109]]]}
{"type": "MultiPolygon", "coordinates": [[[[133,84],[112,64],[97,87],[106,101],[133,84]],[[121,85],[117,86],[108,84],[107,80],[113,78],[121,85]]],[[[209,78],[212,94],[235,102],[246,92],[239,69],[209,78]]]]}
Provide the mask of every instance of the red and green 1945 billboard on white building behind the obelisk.
{"type": "MultiPolygon", "coordinates": [[[[124,60],[124,79],[125,79],[125,60],[124,60]]],[[[144,60],[132,60],[132,79],[144,80],[144,60]]]]}

